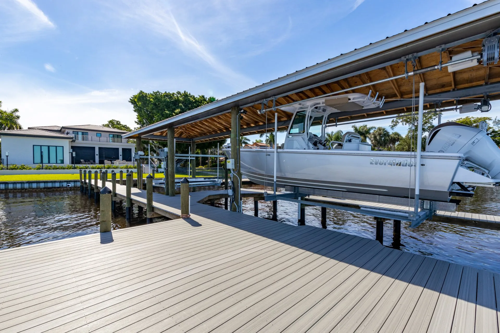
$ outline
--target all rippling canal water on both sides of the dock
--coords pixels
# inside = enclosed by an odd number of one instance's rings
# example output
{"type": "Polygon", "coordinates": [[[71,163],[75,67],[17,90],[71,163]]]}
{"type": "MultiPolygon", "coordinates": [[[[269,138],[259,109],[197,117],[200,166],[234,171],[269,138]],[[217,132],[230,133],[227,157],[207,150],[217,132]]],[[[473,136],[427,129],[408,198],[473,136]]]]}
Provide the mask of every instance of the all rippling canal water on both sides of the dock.
{"type": "MultiPolygon", "coordinates": [[[[246,188],[259,188],[251,185],[246,188]]],[[[201,190],[201,189],[200,189],[201,190]]],[[[161,192],[161,189],[155,189],[161,192]]],[[[458,210],[470,213],[500,215],[500,188],[477,188],[473,198],[458,198],[458,210]]],[[[223,207],[223,200],[215,202],[223,207]]],[[[35,192],[0,192],[0,249],[47,242],[99,232],[98,205],[78,190],[35,192]]],[[[253,215],[253,199],[243,198],[243,212],[253,215]]],[[[271,218],[272,204],[259,202],[259,216],[271,218]]],[[[374,239],[372,218],[345,211],[327,210],[327,229],[374,239]]],[[[319,207],[305,209],[305,224],[321,228],[319,207]]],[[[154,222],[165,218],[155,218],[154,222]]],[[[278,201],[278,221],[297,224],[297,205],[278,201]]],[[[131,226],[145,223],[145,210],[134,206],[131,226]]],[[[112,228],[128,226],[124,205],[117,204],[112,228]]],[[[391,246],[392,221],[384,225],[384,245],[391,246]]],[[[411,229],[401,222],[403,251],[431,256],[457,264],[500,273],[500,231],[457,226],[440,222],[424,222],[411,229]]]]}

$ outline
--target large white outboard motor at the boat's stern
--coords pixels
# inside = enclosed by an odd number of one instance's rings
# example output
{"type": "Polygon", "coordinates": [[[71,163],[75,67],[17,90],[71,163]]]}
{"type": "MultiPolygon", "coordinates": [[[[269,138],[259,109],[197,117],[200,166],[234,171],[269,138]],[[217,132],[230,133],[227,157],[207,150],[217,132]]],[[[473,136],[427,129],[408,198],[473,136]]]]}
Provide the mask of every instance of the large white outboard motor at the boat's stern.
{"type": "Polygon", "coordinates": [[[482,129],[457,122],[445,122],[429,132],[425,151],[461,153],[465,167],[500,178],[500,149],[482,129]]]}

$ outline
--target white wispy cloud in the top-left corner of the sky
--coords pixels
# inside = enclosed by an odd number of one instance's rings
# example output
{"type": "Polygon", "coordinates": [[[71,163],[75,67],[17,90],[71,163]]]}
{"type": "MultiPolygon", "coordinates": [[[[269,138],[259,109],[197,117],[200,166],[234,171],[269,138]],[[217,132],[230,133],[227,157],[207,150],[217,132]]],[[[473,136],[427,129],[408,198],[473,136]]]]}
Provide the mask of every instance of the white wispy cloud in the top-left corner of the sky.
{"type": "Polygon", "coordinates": [[[55,24],[32,0],[0,1],[0,40],[21,41],[55,24]]]}

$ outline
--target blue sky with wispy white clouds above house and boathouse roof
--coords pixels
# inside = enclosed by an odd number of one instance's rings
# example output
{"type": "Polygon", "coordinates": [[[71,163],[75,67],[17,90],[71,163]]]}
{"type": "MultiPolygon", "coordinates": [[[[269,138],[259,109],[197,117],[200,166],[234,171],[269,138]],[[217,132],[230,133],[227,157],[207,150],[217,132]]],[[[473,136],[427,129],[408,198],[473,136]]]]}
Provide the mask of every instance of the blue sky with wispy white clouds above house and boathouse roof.
{"type": "Polygon", "coordinates": [[[2,0],[0,100],[24,127],[135,127],[128,98],[139,90],[223,98],[472,3],[2,0]]]}

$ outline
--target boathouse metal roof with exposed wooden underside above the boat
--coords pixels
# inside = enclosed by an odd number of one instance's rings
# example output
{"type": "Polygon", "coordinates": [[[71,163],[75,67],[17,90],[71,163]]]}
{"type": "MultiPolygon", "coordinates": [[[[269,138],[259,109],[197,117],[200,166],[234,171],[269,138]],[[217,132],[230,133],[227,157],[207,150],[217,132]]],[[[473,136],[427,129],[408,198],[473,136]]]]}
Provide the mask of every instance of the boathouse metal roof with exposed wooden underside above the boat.
{"type": "MultiPolygon", "coordinates": [[[[407,70],[445,63],[451,56],[470,50],[480,52],[483,38],[500,28],[500,0],[488,0],[453,14],[405,30],[364,47],[303,68],[259,86],[222,98],[196,109],[158,121],[123,137],[164,140],[166,129],[175,128],[177,141],[197,142],[227,138],[230,135],[230,108],[246,111],[241,120],[241,134],[257,134],[273,130],[273,116],[258,110],[275,105],[278,129],[286,129],[291,113],[279,105],[321,96],[338,90],[367,84],[407,70]],[[414,62],[411,61],[413,59],[414,62]],[[412,67],[414,63],[414,68],[412,67]],[[272,118],[272,119],[271,119],[272,118]]],[[[415,76],[415,85],[425,82],[424,109],[462,104],[470,98],[500,99],[500,63],[448,72],[435,70],[415,76]]],[[[385,103],[373,110],[339,112],[338,123],[351,120],[408,112],[412,104],[413,78],[398,78],[383,83],[355,88],[347,92],[378,92],[385,103]]],[[[418,90],[418,89],[416,89],[418,90]]],[[[418,96],[418,91],[416,91],[418,96]]]]}

